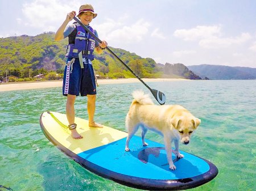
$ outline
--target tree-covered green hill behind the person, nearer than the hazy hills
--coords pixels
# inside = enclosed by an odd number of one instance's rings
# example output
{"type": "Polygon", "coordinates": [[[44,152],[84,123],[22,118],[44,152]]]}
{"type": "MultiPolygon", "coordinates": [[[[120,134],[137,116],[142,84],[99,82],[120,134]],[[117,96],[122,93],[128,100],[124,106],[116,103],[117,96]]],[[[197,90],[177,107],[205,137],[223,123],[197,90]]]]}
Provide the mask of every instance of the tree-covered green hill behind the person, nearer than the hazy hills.
{"type": "MultiPolygon", "coordinates": [[[[49,73],[63,73],[65,67],[65,52],[68,39],[54,40],[55,33],[47,32],[37,36],[14,36],[0,39],[0,77],[14,75],[18,78],[28,78],[49,73]]],[[[170,69],[170,64],[159,65],[152,58],[142,58],[135,53],[110,47],[123,62],[126,63],[141,78],[190,78],[189,70],[181,64],[179,72],[170,69]]],[[[95,53],[94,70],[101,78],[134,78],[107,50],[102,54],[95,53]]],[[[52,75],[51,75],[52,76],[52,75]]],[[[60,76],[59,76],[60,77],[60,76]]],[[[1,79],[0,79],[1,80],[1,79]]]]}

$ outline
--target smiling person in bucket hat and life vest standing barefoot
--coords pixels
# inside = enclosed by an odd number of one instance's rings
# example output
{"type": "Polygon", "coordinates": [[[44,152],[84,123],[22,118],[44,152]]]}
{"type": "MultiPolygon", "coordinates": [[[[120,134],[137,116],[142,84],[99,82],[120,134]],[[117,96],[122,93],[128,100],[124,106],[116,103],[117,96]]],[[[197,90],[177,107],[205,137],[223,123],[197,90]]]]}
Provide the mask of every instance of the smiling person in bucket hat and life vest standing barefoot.
{"type": "MultiPolygon", "coordinates": [[[[67,63],[64,71],[63,79],[63,95],[67,96],[66,113],[69,122],[69,130],[75,139],[81,139],[82,136],[76,130],[75,124],[75,100],[76,96],[87,96],[87,112],[89,116],[89,126],[94,128],[102,128],[103,126],[94,121],[94,112],[96,109],[96,80],[92,66],[94,59],[94,50],[101,54],[103,49],[108,46],[106,41],[98,43],[96,39],[85,31],[78,23],[68,26],[68,23],[76,15],[75,11],[67,14],[64,23],[55,34],[55,40],[59,41],[68,37],[67,63]]],[[[92,19],[96,18],[97,13],[94,12],[92,5],[85,4],[80,6],[77,15],[82,24],[90,29],[98,37],[97,31],[89,26],[92,19]]]]}

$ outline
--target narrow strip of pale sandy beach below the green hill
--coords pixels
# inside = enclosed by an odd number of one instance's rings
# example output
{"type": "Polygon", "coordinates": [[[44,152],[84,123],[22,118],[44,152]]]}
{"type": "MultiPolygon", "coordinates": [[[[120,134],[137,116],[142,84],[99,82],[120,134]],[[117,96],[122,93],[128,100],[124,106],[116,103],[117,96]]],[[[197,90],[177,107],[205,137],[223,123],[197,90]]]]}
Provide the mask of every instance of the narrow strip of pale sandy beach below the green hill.
{"type": "MultiPolygon", "coordinates": [[[[188,80],[181,78],[142,78],[144,82],[171,82],[177,80],[188,80]]],[[[115,84],[115,83],[141,83],[137,78],[126,78],[126,79],[98,79],[98,85],[100,84],[115,84]]],[[[15,91],[15,90],[30,90],[36,88],[51,88],[51,87],[62,87],[62,80],[54,81],[40,81],[40,82],[27,82],[27,83],[1,83],[1,91],[15,91]]]]}

